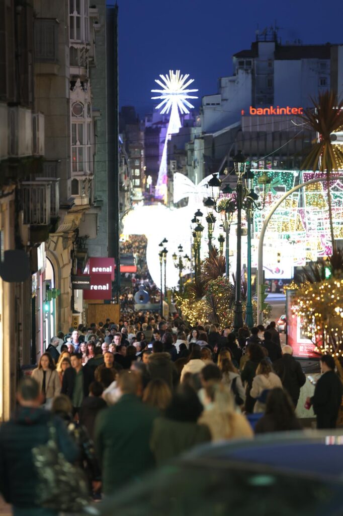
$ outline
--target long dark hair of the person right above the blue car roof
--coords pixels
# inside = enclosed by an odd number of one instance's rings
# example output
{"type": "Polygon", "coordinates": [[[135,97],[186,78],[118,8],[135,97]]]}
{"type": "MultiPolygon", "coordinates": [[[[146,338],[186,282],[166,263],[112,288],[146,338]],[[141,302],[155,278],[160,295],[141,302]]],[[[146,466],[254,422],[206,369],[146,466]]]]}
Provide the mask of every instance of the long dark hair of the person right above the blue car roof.
{"type": "MultiPolygon", "coordinates": [[[[269,391],[265,414],[272,417],[277,431],[294,429],[298,423],[293,402],[289,394],[281,387],[269,391]]],[[[300,428],[299,423],[298,426],[300,428]]]]}

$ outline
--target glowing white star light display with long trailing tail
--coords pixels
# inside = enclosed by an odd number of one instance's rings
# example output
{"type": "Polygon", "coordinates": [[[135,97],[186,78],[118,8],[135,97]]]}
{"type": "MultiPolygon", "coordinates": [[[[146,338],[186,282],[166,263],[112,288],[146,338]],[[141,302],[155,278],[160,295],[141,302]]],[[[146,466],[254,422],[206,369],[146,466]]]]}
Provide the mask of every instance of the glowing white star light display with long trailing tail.
{"type": "Polygon", "coordinates": [[[159,93],[158,96],[151,97],[152,100],[161,100],[160,104],[156,106],[156,109],[161,109],[161,114],[168,114],[170,111],[169,124],[167,128],[167,134],[164,142],[162,159],[160,164],[159,176],[157,180],[155,196],[161,199],[165,199],[167,192],[167,144],[170,136],[180,131],[181,120],[179,110],[182,115],[186,115],[190,112],[188,108],[193,109],[194,106],[188,102],[187,99],[197,99],[195,93],[198,90],[188,89],[194,79],[188,79],[190,75],[181,75],[180,70],[169,70],[168,75],[160,75],[160,79],[155,79],[155,82],[161,86],[159,90],[151,90],[152,93],[159,93]]]}

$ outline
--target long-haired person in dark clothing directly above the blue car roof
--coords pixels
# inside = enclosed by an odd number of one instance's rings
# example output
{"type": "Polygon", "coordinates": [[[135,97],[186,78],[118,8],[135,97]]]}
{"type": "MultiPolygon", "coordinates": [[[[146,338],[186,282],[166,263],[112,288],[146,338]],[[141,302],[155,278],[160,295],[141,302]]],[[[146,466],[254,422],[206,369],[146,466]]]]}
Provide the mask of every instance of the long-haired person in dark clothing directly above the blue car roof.
{"type": "Polygon", "coordinates": [[[264,415],[255,425],[255,433],[300,430],[295,408],[289,394],[279,387],[269,391],[264,415]]]}

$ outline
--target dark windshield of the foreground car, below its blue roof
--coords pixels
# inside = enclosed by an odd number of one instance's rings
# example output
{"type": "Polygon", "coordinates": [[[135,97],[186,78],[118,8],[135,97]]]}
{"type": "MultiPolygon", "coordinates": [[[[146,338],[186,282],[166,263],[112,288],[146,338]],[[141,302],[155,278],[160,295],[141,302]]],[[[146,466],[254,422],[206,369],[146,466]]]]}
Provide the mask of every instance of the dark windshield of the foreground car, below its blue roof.
{"type": "Polygon", "coordinates": [[[341,513],[342,485],[226,460],[179,461],[98,507],[103,516],[319,516],[341,513]]]}

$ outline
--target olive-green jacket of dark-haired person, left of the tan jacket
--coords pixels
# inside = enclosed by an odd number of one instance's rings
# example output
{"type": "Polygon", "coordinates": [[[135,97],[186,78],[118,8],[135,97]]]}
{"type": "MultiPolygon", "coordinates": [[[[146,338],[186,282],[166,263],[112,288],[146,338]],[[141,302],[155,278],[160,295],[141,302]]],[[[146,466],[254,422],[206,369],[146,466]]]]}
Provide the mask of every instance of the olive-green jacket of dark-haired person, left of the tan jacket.
{"type": "Polygon", "coordinates": [[[158,417],[153,423],[150,445],[157,465],[161,465],[210,440],[211,432],[205,425],[158,417]]]}

